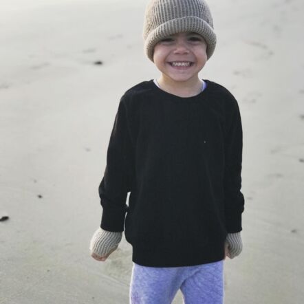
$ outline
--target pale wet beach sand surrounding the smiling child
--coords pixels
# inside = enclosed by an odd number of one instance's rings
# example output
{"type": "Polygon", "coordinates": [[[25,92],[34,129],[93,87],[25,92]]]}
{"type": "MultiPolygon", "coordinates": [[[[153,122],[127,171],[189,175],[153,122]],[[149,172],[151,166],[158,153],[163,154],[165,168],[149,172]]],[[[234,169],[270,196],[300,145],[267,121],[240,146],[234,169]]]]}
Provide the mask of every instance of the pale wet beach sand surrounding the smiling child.
{"type": "MultiPolygon", "coordinates": [[[[120,96],[158,76],[146,2],[1,1],[1,304],[128,303],[129,243],[105,263],[88,246],[120,96]]],[[[210,8],[218,43],[201,76],[237,98],[244,135],[243,252],[226,259],[225,303],[303,303],[304,4],[210,8]]]]}

